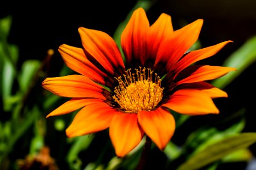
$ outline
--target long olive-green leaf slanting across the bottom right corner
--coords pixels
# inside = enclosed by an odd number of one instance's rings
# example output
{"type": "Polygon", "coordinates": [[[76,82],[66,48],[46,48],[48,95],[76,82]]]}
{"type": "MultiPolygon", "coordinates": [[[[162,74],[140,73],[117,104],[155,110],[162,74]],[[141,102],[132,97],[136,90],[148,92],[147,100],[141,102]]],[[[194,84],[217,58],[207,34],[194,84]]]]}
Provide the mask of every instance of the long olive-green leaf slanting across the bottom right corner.
{"type": "Polygon", "coordinates": [[[256,133],[241,133],[227,137],[193,155],[187,162],[181,164],[178,169],[193,170],[203,168],[205,165],[213,163],[234,151],[247,148],[255,142],[256,133]]]}

